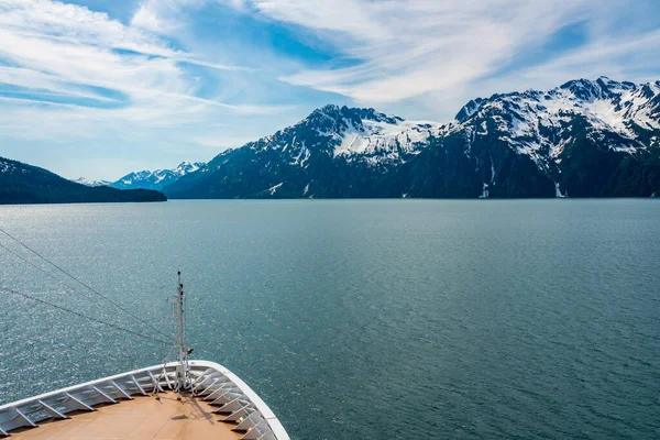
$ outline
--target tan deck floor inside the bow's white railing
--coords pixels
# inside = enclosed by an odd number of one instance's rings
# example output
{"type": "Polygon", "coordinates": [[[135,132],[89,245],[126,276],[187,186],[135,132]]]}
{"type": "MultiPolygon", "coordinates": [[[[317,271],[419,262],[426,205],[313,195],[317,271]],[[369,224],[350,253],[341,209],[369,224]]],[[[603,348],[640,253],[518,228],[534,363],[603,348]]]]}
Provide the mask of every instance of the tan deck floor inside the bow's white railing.
{"type": "Polygon", "coordinates": [[[134,396],[114,405],[80,413],[66,420],[40,424],[38,428],[10,432],[13,439],[123,440],[123,439],[218,439],[235,440],[235,425],[220,421],[213,407],[193,396],[180,402],[175,393],[134,396]]]}

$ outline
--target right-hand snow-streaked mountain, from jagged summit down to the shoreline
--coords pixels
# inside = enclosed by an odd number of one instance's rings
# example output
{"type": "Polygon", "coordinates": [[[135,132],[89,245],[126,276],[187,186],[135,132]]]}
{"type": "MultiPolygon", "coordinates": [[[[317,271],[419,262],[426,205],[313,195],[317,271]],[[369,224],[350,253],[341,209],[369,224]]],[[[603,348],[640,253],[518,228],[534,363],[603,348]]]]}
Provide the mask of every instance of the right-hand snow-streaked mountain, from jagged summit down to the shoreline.
{"type": "Polygon", "coordinates": [[[458,142],[474,162],[482,195],[501,197],[632,194],[616,184],[632,173],[622,162],[648,155],[659,135],[660,81],[635,85],[606,77],[471,101],[442,133],[446,143],[458,142]],[[509,152],[516,156],[505,155],[509,152]],[[528,160],[538,174],[535,183],[512,183],[529,177],[509,170],[513,163],[526,167],[528,160]],[[502,184],[510,186],[502,189],[502,184]]]}

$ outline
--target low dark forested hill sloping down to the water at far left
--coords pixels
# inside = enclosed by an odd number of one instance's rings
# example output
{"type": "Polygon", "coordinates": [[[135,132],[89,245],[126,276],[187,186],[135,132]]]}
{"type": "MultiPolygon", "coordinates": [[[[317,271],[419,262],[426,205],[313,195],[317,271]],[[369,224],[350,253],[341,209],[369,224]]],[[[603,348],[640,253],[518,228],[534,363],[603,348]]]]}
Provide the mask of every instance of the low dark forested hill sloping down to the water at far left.
{"type": "Polygon", "coordinates": [[[0,205],[165,201],[158,191],[89,187],[47,169],[0,157],[0,205]]]}

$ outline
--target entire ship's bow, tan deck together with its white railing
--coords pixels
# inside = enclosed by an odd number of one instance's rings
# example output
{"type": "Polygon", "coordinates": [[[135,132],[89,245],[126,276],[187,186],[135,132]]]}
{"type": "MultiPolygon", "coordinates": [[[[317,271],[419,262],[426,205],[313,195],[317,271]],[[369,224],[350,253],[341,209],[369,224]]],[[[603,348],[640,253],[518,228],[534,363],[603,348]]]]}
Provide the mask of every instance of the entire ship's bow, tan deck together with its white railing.
{"type": "Polygon", "coordinates": [[[0,437],[289,440],[271,408],[222,365],[188,361],[180,396],[179,367],[153,365],[0,405],[0,437]]]}

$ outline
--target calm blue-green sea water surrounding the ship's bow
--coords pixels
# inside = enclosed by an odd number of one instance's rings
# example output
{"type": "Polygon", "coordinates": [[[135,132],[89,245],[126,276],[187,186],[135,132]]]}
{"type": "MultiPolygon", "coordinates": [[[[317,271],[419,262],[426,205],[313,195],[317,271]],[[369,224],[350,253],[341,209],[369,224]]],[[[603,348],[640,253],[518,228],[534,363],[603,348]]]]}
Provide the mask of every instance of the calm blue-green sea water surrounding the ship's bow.
{"type": "MultiPolygon", "coordinates": [[[[656,200],[24,206],[0,224],[165,332],[183,271],[196,356],[294,439],[660,437],[656,200]]],[[[2,249],[0,284],[147,331],[2,249]]],[[[7,293],[0,334],[3,403],[167,352],[7,293]]]]}

